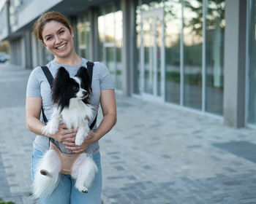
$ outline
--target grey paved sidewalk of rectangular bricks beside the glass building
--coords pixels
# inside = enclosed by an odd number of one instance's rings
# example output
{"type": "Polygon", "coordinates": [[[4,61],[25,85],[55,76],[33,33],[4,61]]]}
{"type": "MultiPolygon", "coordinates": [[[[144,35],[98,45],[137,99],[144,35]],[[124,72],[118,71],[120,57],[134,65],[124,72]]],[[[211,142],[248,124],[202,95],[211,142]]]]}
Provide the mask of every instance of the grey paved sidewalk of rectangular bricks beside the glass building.
{"type": "MultiPolygon", "coordinates": [[[[40,203],[28,196],[34,140],[25,122],[29,73],[0,64],[0,197],[16,204],[40,203]]],[[[117,125],[100,140],[105,204],[256,203],[256,130],[116,98],[117,125]]]]}

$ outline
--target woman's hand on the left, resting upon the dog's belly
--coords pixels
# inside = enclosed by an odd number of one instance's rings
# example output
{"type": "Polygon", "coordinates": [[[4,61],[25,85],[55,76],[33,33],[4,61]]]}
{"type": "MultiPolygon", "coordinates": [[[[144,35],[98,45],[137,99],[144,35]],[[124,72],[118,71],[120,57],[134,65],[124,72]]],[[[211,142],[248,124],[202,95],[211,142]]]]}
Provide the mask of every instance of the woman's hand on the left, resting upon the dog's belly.
{"type": "Polygon", "coordinates": [[[69,130],[67,129],[67,125],[61,124],[59,125],[59,130],[54,135],[50,135],[50,138],[53,138],[54,140],[63,143],[64,141],[70,141],[70,138],[72,138],[72,140],[75,140],[76,134],[77,130],[69,130]]]}

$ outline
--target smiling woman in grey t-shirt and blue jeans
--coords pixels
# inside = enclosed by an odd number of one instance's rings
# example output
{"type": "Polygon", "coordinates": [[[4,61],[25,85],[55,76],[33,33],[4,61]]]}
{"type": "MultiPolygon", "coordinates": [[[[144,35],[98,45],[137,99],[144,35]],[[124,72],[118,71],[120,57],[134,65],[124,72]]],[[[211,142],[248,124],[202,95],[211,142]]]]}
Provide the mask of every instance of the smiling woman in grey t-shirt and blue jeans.
{"type": "MultiPolygon", "coordinates": [[[[53,76],[61,66],[64,66],[69,71],[70,76],[75,76],[80,66],[86,67],[87,60],[80,58],[75,52],[72,26],[59,12],[43,13],[34,25],[34,34],[37,35],[37,38],[48,51],[54,55],[54,60],[46,65],[53,76]]],[[[26,92],[26,125],[31,132],[37,134],[32,155],[32,178],[34,178],[37,162],[49,149],[49,138],[64,144],[67,152],[93,152],[93,159],[99,169],[88,194],[83,194],[75,188],[75,181],[72,181],[70,175],[61,174],[59,185],[52,195],[50,197],[40,197],[42,203],[100,203],[102,172],[98,141],[116,124],[116,98],[113,82],[108,68],[102,63],[94,63],[91,86],[93,93],[91,94],[90,102],[94,112],[92,121],[97,115],[99,104],[102,108],[103,119],[99,127],[95,125],[89,132],[89,136],[86,137],[81,146],[75,146],[76,132],[75,130],[67,130],[66,125],[59,125],[59,131],[54,135],[43,136],[42,127],[45,124],[40,119],[41,109],[42,107],[44,108],[45,116],[48,119],[50,119],[53,111],[50,86],[40,67],[34,68],[29,76],[26,92]]]]}

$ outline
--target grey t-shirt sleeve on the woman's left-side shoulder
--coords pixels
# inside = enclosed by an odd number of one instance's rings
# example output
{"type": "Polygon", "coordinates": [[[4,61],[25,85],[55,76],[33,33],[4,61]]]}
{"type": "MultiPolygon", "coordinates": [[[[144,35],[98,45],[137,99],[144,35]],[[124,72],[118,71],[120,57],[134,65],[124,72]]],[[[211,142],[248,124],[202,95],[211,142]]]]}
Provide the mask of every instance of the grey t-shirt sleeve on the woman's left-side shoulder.
{"type": "Polygon", "coordinates": [[[26,97],[38,97],[41,98],[41,91],[40,91],[40,83],[38,80],[38,69],[35,68],[28,80],[28,84],[26,87],[26,97]]]}

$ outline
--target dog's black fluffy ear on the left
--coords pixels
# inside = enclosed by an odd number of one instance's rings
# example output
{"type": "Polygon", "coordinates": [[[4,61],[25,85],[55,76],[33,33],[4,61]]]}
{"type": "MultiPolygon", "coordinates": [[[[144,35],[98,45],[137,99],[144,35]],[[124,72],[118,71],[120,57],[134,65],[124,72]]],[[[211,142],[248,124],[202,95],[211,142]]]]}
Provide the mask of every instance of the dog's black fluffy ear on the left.
{"type": "Polygon", "coordinates": [[[59,98],[63,94],[63,90],[65,90],[66,86],[68,85],[69,79],[69,72],[66,70],[66,68],[61,66],[53,79],[53,103],[59,102],[59,98]]]}

